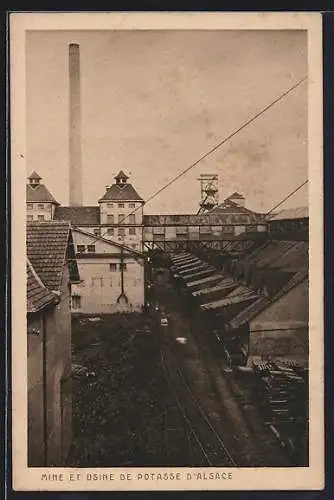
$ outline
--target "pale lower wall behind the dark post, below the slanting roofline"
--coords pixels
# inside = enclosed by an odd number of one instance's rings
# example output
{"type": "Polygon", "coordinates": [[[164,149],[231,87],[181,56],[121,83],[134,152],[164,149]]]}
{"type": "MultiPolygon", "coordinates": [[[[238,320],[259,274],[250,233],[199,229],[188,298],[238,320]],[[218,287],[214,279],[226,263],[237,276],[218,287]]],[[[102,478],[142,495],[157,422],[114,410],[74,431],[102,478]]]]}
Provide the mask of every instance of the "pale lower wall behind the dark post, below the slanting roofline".
{"type": "Polygon", "coordinates": [[[117,302],[121,294],[120,258],[120,253],[117,257],[78,258],[82,283],[72,286],[73,312],[108,314],[124,310],[141,311],[144,304],[143,261],[124,256],[124,292],[128,298],[128,305],[124,307],[117,302]]]}

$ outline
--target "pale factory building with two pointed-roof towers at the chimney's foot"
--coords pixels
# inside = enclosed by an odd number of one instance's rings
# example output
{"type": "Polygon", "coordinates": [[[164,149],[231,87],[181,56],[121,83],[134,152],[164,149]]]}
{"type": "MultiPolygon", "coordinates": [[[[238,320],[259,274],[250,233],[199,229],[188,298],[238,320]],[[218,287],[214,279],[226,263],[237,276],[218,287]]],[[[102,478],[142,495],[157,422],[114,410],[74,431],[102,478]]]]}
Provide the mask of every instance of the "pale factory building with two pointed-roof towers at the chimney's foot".
{"type": "Polygon", "coordinates": [[[34,212],[36,221],[71,224],[81,277],[80,283],[72,287],[72,312],[141,311],[145,302],[141,252],[144,201],[128,183],[128,177],[119,172],[99,205],[86,207],[60,206],[40,180],[36,172],[28,178],[27,219],[30,221],[34,212]],[[44,214],[38,212],[40,205],[44,214]]]}

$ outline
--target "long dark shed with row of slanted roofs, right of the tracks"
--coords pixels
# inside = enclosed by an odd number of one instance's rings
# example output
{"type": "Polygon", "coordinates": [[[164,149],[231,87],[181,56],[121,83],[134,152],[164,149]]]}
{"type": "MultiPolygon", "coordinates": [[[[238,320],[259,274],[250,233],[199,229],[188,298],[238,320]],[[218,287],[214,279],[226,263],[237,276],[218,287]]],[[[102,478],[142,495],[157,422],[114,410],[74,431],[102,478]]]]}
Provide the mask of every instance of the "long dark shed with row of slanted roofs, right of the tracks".
{"type": "Polygon", "coordinates": [[[198,248],[173,257],[172,271],[190,299],[195,323],[203,331],[210,325],[236,364],[267,357],[308,363],[304,214],[290,219],[295,229],[288,237],[285,229],[275,229],[247,246],[235,240],[225,252],[198,248]]]}

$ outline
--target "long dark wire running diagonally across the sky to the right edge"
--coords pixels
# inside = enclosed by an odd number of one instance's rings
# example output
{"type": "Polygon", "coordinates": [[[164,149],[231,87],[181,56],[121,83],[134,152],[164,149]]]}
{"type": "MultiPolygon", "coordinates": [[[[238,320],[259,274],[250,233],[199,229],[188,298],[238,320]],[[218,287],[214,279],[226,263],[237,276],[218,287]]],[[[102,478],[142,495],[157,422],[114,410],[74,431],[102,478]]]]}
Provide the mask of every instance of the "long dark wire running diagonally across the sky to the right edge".
{"type": "MultiPolygon", "coordinates": [[[[180,179],[181,177],[183,177],[186,173],[188,173],[191,169],[193,169],[194,167],[196,167],[201,161],[205,160],[206,158],[208,158],[208,156],[210,156],[212,153],[214,153],[215,151],[217,151],[221,146],[223,146],[227,141],[229,141],[230,139],[232,139],[234,136],[236,136],[239,132],[241,132],[243,129],[245,129],[246,127],[248,127],[248,125],[250,125],[251,123],[253,123],[257,118],[259,118],[263,113],[265,113],[266,111],[268,111],[270,108],[272,108],[275,104],[277,104],[278,102],[280,102],[284,97],[286,97],[288,94],[290,94],[290,92],[292,92],[293,90],[295,90],[297,87],[299,87],[299,85],[301,85],[303,82],[305,82],[307,80],[307,76],[301,78],[300,80],[298,80],[297,83],[295,83],[294,85],[292,85],[292,87],[289,87],[286,91],[284,91],[282,94],[280,94],[278,97],[276,97],[276,99],[274,99],[270,104],[268,104],[267,106],[265,106],[264,108],[262,108],[260,111],[258,111],[255,115],[253,115],[251,118],[249,118],[247,121],[245,121],[240,127],[238,127],[236,130],[234,130],[233,132],[231,132],[228,136],[226,136],[223,140],[221,140],[218,144],[216,144],[215,146],[213,146],[211,149],[209,149],[206,153],[204,153],[203,155],[200,156],[200,158],[198,158],[195,162],[193,162],[191,165],[189,165],[187,168],[185,168],[184,170],[182,170],[179,174],[177,174],[175,177],[173,177],[170,181],[168,181],[166,184],[164,184],[160,189],[158,189],[158,191],[156,191],[155,193],[153,193],[151,196],[149,196],[149,198],[147,198],[147,200],[144,202],[144,204],[147,204],[148,202],[152,201],[154,198],[156,198],[156,196],[158,196],[160,193],[162,193],[162,191],[164,191],[165,189],[167,189],[169,186],[171,186],[172,184],[174,184],[174,182],[176,182],[178,179],[180,179]]],[[[132,212],[129,212],[122,220],[120,220],[117,224],[116,227],[118,227],[119,225],[122,225],[123,222],[128,218],[130,217],[130,215],[133,215],[135,214],[138,210],[140,210],[142,208],[142,206],[139,206],[137,208],[135,208],[132,212]]],[[[276,207],[274,207],[276,208],[276,207]]],[[[269,212],[270,213],[270,212],[269,212]]],[[[115,227],[115,228],[116,228],[115,227]]],[[[105,231],[104,233],[102,233],[99,237],[104,237],[106,234],[107,234],[108,231],[105,231]]],[[[96,239],[94,241],[98,241],[99,237],[96,237],[96,239]]],[[[112,241],[112,240],[111,240],[112,241]]]]}

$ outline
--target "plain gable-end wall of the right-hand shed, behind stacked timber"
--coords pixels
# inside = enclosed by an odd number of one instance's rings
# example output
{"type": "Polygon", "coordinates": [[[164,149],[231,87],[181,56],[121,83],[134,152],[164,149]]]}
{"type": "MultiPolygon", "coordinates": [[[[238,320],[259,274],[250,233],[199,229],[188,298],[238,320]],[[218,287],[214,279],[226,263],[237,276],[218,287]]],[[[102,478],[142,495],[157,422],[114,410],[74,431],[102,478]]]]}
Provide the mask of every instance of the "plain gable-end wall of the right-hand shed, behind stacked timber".
{"type": "Polygon", "coordinates": [[[303,281],[250,322],[250,356],[308,359],[308,282],[303,281]]]}

